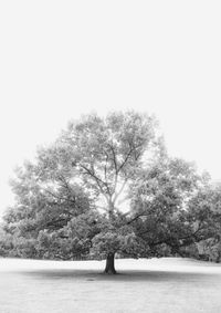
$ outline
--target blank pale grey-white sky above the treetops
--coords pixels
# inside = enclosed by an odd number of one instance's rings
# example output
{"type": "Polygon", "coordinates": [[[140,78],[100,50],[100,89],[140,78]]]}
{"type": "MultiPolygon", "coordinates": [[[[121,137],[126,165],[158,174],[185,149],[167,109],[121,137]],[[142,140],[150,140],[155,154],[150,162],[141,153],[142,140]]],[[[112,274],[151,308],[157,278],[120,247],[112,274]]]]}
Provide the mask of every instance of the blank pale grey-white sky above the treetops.
{"type": "Polygon", "coordinates": [[[0,1],[0,215],[13,168],[67,121],[156,114],[171,156],[221,180],[220,1],[0,1]]]}

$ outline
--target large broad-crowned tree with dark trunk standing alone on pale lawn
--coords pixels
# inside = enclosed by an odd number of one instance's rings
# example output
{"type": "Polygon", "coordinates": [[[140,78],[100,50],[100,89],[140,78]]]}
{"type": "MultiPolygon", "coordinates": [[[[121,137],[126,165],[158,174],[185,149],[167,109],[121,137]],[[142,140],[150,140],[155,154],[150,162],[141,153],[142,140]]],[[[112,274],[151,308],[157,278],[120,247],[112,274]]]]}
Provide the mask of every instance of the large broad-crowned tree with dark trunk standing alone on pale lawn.
{"type": "Polygon", "coordinates": [[[168,158],[148,115],[71,122],[11,185],[15,205],[4,230],[22,257],[105,258],[105,272],[115,273],[116,253],[178,253],[200,232],[188,204],[206,182],[192,165],[168,158]]]}

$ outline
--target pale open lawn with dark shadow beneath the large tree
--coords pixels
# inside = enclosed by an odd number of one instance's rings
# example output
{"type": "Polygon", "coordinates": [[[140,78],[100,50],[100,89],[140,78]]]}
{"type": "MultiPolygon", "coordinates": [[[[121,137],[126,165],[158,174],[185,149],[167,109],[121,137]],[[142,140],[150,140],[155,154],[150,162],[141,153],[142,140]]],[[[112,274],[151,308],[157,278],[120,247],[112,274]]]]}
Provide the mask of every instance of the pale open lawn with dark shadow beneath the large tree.
{"type": "Polygon", "coordinates": [[[0,313],[220,313],[221,265],[188,259],[0,259],[0,313]]]}

